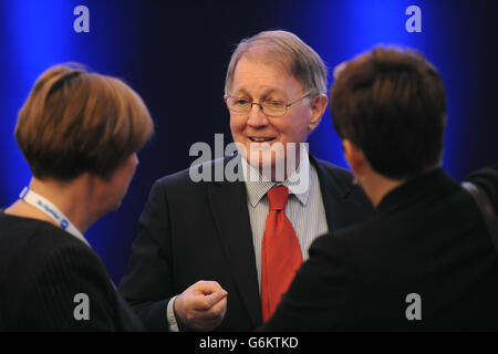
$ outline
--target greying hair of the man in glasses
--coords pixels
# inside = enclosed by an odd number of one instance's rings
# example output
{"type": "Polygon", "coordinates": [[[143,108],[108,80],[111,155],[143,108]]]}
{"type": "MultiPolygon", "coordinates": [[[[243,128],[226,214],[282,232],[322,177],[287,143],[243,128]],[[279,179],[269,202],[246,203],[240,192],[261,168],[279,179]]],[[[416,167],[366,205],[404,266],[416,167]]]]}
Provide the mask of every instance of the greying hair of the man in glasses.
{"type": "MultiPolygon", "coordinates": [[[[326,95],[326,66],[320,55],[299,37],[287,31],[263,31],[242,40],[234,51],[225,80],[225,94],[229,94],[239,60],[253,49],[261,49],[264,60],[280,61],[301,83],[303,92],[326,95]]],[[[258,55],[258,53],[256,53],[258,55]]]]}

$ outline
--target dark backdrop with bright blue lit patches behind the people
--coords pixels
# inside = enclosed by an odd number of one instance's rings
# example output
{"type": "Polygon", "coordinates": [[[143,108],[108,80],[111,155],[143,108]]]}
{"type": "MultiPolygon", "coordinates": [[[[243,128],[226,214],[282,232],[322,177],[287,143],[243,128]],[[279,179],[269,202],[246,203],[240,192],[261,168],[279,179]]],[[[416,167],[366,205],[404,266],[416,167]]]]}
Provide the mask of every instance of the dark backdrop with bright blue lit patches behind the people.
{"type": "MultiPolygon", "coordinates": [[[[221,100],[231,50],[266,29],[294,32],[329,67],[377,43],[414,46],[442,72],[448,94],[444,167],[455,178],[498,162],[496,1],[125,1],[0,0],[0,207],[30,180],[13,138],[17,112],[38,75],[68,61],[124,79],[157,124],[120,210],[86,233],[118,282],[153,181],[187,168],[195,142],[231,138],[221,100]],[[90,10],[75,33],[73,9],[90,10]],[[405,30],[405,9],[422,10],[422,33],[405,30]]],[[[330,114],[310,136],[320,158],[345,166],[330,114]]]]}

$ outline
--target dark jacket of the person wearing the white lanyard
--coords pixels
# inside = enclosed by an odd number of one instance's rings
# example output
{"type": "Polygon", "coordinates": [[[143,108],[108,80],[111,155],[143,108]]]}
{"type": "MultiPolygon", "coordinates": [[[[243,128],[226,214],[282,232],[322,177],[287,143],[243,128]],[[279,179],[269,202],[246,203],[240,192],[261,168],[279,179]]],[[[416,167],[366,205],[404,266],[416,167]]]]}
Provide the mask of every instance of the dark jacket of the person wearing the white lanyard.
{"type": "Polygon", "coordinates": [[[0,330],[143,331],[98,256],[62,229],[0,211],[0,330]],[[74,310],[89,298],[89,320],[74,310]],[[77,300],[77,299],[76,299],[77,300]]]}

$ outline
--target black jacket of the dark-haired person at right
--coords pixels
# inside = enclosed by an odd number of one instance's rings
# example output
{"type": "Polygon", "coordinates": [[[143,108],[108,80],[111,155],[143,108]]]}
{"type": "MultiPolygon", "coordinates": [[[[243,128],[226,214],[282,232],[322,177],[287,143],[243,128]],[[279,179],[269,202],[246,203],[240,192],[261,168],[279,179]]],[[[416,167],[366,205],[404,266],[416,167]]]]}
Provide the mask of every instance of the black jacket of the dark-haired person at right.
{"type": "MultiPolygon", "coordinates": [[[[497,205],[498,169],[473,179],[497,205]]],[[[392,190],[367,221],[313,242],[261,330],[498,330],[498,256],[477,205],[443,169],[392,190]]]]}

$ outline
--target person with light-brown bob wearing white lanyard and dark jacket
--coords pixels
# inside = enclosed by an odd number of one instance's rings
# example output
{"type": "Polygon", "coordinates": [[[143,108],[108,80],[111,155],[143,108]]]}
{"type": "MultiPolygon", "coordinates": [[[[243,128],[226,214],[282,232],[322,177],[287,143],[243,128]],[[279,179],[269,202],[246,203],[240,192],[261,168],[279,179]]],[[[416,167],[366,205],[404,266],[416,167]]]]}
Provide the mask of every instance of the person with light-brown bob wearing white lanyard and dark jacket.
{"type": "Polygon", "coordinates": [[[0,210],[2,330],[144,330],[83,233],[120,207],[153,131],[118,79],[81,65],[38,79],[14,133],[33,177],[0,210]]]}

